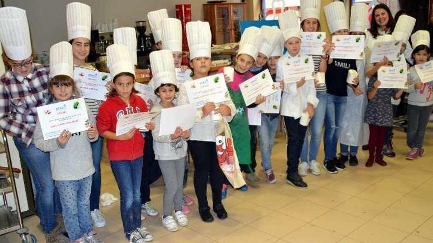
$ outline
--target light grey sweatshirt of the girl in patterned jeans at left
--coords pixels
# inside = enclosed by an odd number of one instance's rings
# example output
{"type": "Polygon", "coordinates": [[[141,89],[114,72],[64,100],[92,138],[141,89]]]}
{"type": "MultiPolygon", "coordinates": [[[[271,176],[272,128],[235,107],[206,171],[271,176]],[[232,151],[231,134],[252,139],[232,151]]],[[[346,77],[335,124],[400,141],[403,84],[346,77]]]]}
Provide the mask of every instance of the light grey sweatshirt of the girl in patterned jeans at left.
{"type": "MultiPolygon", "coordinates": [[[[96,120],[87,108],[90,124],[96,126],[96,120]]],[[[92,175],[95,172],[90,143],[96,141],[87,136],[87,131],[72,134],[65,146],[60,146],[57,138],[44,140],[39,119],[36,123],[33,141],[34,145],[50,152],[51,176],[55,181],[75,181],[92,175]]]]}

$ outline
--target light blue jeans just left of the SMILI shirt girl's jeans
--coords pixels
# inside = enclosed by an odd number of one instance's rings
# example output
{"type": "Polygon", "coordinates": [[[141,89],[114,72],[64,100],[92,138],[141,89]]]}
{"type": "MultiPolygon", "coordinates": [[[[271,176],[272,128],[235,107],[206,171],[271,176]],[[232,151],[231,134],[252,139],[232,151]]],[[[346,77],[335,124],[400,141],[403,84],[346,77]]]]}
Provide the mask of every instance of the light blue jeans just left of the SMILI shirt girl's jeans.
{"type": "Polygon", "coordinates": [[[304,145],[302,145],[301,162],[311,162],[317,159],[319,153],[320,142],[322,141],[323,122],[325,120],[325,112],[327,105],[326,91],[316,93],[319,104],[314,109],[314,116],[310,122],[310,129],[305,133],[304,145]],[[311,134],[311,140],[308,140],[311,134]]]}

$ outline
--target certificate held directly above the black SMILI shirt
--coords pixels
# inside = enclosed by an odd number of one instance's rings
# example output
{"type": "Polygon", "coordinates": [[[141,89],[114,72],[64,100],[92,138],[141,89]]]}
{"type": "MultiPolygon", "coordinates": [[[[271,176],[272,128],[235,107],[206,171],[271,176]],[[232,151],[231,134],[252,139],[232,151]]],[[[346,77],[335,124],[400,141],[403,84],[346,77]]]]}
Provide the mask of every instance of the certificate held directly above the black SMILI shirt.
{"type": "Polygon", "coordinates": [[[331,58],[364,58],[364,35],[333,35],[332,43],[334,43],[335,49],[331,52],[331,58]]]}

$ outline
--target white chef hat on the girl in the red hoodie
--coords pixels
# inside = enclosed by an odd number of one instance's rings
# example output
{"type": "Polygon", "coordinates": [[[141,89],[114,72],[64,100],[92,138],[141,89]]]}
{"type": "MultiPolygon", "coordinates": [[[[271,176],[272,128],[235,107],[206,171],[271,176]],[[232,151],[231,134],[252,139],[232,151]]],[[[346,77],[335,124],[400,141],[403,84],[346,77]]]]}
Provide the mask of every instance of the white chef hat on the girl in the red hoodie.
{"type": "Polygon", "coordinates": [[[135,77],[134,64],[131,62],[131,52],[122,44],[107,47],[107,61],[110,75],[113,79],[120,73],[130,73],[135,77]]]}

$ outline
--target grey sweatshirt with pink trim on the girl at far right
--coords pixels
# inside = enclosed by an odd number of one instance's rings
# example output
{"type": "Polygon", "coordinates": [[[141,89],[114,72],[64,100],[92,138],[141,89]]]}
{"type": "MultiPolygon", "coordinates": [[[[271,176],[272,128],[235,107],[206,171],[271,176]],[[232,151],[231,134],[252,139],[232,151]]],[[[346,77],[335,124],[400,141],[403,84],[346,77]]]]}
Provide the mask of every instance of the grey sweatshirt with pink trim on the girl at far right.
{"type": "Polygon", "coordinates": [[[409,69],[409,79],[412,82],[405,91],[409,93],[407,104],[412,106],[427,107],[433,105],[433,81],[424,83],[420,89],[415,89],[414,84],[420,81],[415,67],[409,69]]]}

